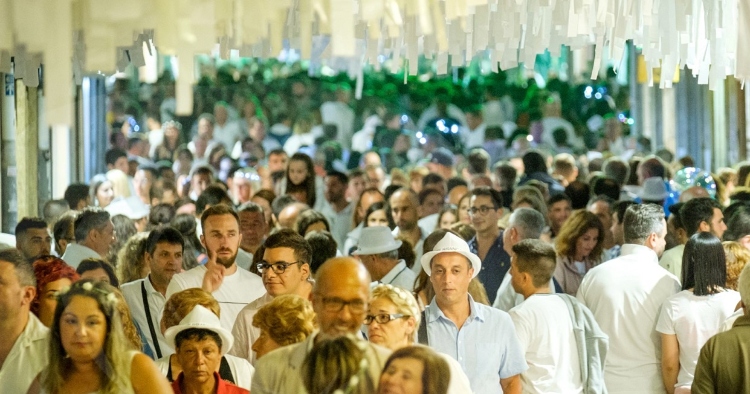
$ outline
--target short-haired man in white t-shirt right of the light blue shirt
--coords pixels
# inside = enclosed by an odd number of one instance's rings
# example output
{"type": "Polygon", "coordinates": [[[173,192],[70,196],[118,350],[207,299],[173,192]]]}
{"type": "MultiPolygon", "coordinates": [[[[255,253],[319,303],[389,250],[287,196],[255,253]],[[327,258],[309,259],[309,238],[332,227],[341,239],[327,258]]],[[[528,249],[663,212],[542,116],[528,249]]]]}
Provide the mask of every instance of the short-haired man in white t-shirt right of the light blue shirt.
{"type": "MultiPolygon", "coordinates": [[[[506,230],[507,231],[507,230],[506,230]]],[[[573,321],[550,279],[555,249],[538,239],[523,240],[511,254],[512,285],[525,301],[508,312],[529,369],[521,374],[524,393],[582,393],[581,362],[573,321]]]]}

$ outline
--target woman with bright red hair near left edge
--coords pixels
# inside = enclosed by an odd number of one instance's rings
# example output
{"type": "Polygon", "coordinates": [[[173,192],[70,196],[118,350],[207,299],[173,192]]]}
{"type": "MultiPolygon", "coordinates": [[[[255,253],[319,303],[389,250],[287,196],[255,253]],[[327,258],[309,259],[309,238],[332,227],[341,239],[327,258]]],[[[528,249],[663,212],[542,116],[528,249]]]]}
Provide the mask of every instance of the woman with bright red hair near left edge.
{"type": "Polygon", "coordinates": [[[76,270],[54,256],[42,256],[34,261],[36,296],[31,302],[33,312],[47,327],[55,317],[57,293],[78,280],[76,270]]]}

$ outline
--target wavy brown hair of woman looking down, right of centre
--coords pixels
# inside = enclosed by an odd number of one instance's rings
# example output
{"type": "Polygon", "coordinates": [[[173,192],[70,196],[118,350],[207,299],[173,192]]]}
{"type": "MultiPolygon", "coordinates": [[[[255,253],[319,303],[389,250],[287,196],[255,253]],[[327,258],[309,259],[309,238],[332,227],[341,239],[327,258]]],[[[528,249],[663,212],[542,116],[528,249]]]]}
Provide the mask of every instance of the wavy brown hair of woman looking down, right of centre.
{"type": "Polygon", "coordinates": [[[588,259],[600,261],[603,250],[602,244],[604,243],[604,226],[598,216],[585,209],[574,211],[568,220],[565,221],[562,228],[560,228],[560,233],[555,238],[557,255],[572,258],[576,253],[578,238],[582,237],[583,234],[586,234],[592,228],[599,232],[599,236],[596,246],[594,246],[588,259]]]}

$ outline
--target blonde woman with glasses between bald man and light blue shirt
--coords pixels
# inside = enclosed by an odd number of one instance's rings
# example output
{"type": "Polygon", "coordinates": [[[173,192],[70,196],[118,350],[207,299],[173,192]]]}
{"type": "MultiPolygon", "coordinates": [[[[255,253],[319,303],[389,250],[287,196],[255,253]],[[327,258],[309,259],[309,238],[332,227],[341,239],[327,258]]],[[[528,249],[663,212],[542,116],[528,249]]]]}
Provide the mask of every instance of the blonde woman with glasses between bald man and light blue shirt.
{"type": "MultiPolygon", "coordinates": [[[[422,314],[414,296],[393,285],[379,284],[371,291],[365,315],[370,342],[396,351],[414,345],[422,314]]],[[[450,367],[448,393],[470,393],[469,379],[456,360],[438,353],[450,367]]]]}

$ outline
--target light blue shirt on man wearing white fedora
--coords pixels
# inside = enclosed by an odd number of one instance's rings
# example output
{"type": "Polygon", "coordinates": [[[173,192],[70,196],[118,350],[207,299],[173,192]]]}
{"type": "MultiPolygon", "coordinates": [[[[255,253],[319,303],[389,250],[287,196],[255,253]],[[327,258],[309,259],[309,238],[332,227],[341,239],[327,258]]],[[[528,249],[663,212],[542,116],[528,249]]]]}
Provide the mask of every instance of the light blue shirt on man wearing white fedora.
{"type": "Polygon", "coordinates": [[[430,347],[458,361],[477,394],[501,394],[500,379],[526,369],[526,358],[510,316],[477,304],[469,297],[471,314],[460,329],[437,306],[435,298],[425,310],[430,347]]]}

